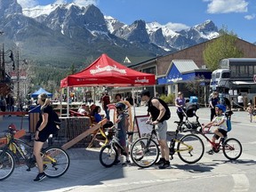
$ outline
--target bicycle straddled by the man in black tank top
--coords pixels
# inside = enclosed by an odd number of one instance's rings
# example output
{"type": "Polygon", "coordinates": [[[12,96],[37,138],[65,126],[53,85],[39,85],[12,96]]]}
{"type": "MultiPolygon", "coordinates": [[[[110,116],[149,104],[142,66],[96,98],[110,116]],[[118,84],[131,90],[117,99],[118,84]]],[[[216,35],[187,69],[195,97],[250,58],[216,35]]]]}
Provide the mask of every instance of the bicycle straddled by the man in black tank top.
{"type": "MultiPolygon", "coordinates": [[[[189,132],[189,131],[188,131],[189,132]]],[[[204,155],[204,142],[196,134],[188,133],[178,139],[179,127],[172,138],[169,151],[171,160],[175,153],[187,164],[195,164],[204,155]]],[[[159,148],[156,143],[156,127],[153,125],[149,137],[135,140],[131,148],[132,162],[141,168],[148,168],[155,164],[159,156],[159,148]]]]}

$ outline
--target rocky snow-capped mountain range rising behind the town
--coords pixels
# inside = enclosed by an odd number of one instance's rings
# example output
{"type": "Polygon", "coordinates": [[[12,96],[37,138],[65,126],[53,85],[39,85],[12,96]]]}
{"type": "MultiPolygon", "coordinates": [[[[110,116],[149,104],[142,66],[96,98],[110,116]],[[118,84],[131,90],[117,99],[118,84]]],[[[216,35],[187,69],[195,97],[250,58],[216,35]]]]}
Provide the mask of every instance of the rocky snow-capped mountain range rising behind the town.
{"type": "MultiPolygon", "coordinates": [[[[17,0],[0,0],[0,28],[8,40],[19,44],[27,54],[63,56],[65,62],[83,52],[93,58],[102,52],[123,60],[154,57],[175,52],[218,36],[218,28],[211,20],[192,28],[173,31],[172,25],[135,20],[131,25],[104,16],[94,5],[48,4],[22,9],[17,0]],[[38,38],[40,36],[40,38],[38,38]],[[36,41],[37,40],[37,41],[36,41]],[[36,43],[40,42],[40,46],[36,43]],[[70,56],[69,56],[70,55],[70,56]]],[[[84,55],[83,54],[83,55],[84,55]]],[[[79,60],[83,60],[80,56],[79,60]]],[[[45,60],[45,58],[44,58],[45,60]]],[[[74,61],[74,60],[73,60],[74,61]]]]}

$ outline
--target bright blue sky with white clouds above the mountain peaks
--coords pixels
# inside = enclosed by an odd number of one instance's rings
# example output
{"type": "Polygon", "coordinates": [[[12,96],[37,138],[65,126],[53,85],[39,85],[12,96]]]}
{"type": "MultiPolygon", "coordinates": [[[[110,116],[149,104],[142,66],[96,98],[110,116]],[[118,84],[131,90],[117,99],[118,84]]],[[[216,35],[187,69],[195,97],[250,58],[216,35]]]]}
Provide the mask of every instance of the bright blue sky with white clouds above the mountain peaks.
{"type": "Polygon", "coordinates": [[[190,28],[212,20],[218,28],[229,31],[250,43],[256,42],[255,0],[17,0],[22,7],[45,4],[94,4],[104,15],[125,24],[134,20],[172,23],[173,29],[190,28]]]}

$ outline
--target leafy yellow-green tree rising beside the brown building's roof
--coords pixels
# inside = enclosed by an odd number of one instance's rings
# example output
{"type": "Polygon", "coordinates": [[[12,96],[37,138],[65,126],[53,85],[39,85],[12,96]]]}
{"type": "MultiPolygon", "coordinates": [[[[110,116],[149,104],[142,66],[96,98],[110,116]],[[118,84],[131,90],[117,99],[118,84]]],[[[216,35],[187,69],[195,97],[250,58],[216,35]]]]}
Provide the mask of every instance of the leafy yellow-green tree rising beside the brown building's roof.
{"type": "Polygon", "coordinates": [[[203,52],[204,63],[210,70],[219,68],[219,62],[225,58],[241,58],[244,53],[236,47],[237,36],[235,33],[228,32],[223,27],[220,29],[220,37],[207,44],[203,52]]]}

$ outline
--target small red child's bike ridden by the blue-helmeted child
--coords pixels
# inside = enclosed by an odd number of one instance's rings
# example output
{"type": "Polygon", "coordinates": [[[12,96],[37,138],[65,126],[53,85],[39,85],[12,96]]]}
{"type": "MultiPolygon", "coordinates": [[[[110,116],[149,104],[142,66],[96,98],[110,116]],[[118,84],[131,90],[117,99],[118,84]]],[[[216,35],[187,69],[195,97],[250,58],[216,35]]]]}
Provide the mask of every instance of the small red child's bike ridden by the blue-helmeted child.
{"type": "MultiPolygon", "coordinates": [[[[228,110],[225,112],[225,116],[227,116],[228,120],[231,119],[231,116],[233,115],[233,112],[228,110]]],[[[200,134],[204,137],[205,140],[207,140],[211,146],[214,153],[219,153],[220,150],[223,151],[224,156],[226,156],[229,160],[236,160],[242,155],[243,148],[242,144],[239,140],[236,138],[228,138],[227,140],[224,140],[224,138],[220,138],[219,142],[212,142],[206,134],[210,132],[211,127],[204,127],[204,124],[199,123],[199,117],[196,116],[196,126],[199,125],[200,129],[197,131],[197,127],[188,127],[190,132],[200,134]]]]}

